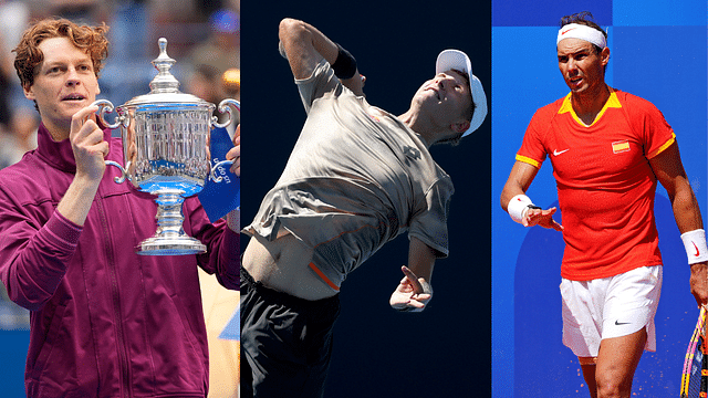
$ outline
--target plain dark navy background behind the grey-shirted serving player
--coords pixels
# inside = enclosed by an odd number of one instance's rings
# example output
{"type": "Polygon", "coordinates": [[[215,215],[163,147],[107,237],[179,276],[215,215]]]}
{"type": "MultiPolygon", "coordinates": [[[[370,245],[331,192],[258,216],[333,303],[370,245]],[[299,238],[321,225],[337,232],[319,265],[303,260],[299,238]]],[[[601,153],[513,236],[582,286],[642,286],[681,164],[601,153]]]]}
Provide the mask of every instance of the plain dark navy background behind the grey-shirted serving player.
{"type": "MultiPolygon", "coordinates": [[[[243,223],[280,176],[305,119],[293,77],[278,53],[284,17],[312,23],[356,57],[367,101],[402,114],[437,54],[466,51],[490,95],[490,3],[408,1],[242,2],[243,223]]],[[[388,297],[407,262],[402,235],[342,286],[326,397],[490,396],[490,117],[458,147],[433,148],[452,177],[450,256],[437,262],[435,297],[400,314],[388,297]]]]}

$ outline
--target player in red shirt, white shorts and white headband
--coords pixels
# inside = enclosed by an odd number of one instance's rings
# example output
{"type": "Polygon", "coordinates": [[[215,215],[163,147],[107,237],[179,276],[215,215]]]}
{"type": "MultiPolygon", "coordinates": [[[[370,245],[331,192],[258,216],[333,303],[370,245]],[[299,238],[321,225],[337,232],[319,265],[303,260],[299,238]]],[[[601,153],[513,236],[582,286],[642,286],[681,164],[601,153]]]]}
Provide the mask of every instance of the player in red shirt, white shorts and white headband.
{"type": "Polygon", "coordinates": [[[656,350],[657,180],[668,192],[699,304],[708,295],[706,237],[671,127],[652,103],[605,83],[607,34],[589,12],[563,17],[561,25],[558,64],[571,92],[533,115],[501,207],[524,227],[562,231],[563,343],[577,355],[591,397],[629,397],[643,350],[656,350]],[[525,196],[546,157],[562,224],[555,208],[541,209],[525,196]]]}

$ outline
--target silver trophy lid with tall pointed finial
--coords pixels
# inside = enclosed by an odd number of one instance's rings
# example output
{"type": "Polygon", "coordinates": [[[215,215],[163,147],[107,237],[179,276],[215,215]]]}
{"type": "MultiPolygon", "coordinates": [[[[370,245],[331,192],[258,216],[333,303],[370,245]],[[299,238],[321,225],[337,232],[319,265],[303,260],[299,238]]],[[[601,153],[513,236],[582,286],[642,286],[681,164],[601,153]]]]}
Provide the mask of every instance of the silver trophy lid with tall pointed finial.
{"type": "Polygon", "coordinates": [[[158,72],[150,82],[150,92],[134,97],[125,103],[123,107],[137,105],[170,105],[178,107],[180,104],[185,106],[214,107],[214,104],[198,96],[181,93],[178,90],[179,81],[169,72],[177,61],[167,55],[167,39],[160,38],[157,43],[159,45],[159,55],[152,63],[158,72]]]}

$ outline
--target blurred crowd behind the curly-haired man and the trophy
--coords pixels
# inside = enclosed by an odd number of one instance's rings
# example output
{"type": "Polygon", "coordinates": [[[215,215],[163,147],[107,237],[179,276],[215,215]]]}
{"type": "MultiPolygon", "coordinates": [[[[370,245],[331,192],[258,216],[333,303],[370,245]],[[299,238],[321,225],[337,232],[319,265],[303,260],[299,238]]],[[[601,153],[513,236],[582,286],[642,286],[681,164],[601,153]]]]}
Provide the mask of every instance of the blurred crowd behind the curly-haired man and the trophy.
{"type": "MultiPolygon", "coordinates": [[[[0,168],[37,146],[40,117],[24,97],[12,49],[31,21],[48,17],[110,27],[98,98],[116,106],[149,93],[159,38],[177,61],[170,72],[181,92],[215,104],[240,98],[240,0],[0,0],[0,168]]],[[[29,314],[0,284],[1,329],[29,329],[29,314]]]]}

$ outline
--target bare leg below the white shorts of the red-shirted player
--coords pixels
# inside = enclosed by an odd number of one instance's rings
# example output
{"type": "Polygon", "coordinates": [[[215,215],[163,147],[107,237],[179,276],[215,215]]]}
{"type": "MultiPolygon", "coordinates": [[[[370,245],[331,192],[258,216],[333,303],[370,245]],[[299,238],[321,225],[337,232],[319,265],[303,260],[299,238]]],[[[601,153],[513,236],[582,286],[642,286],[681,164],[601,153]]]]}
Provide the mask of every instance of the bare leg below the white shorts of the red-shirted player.
{"type": "Polygon", "coordinates": [[[598,398],[628,398],[632,395],[634,371],[644,353],[646,339],[646,328],[643,327],[626,336],[602,341],[595,368],[598,398]]]}

